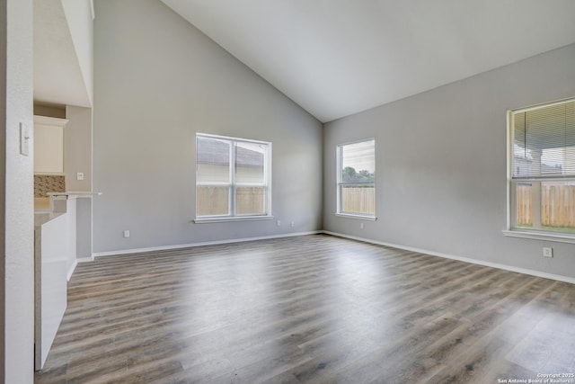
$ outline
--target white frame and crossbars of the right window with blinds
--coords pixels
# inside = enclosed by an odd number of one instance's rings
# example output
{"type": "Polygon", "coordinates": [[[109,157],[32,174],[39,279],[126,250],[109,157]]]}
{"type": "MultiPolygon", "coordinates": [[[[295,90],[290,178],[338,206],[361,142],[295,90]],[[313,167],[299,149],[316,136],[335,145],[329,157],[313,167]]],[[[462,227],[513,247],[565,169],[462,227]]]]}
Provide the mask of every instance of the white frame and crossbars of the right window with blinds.
{"type": "Polygon", "coordinates": [[[575,98],[568,98],[553,101],[550,103],[540,103],[525,108],[517,108],[509,110],[507,113],[507,229],[503,230],[503,234],[508,237],[523,237],[535,240],[553,241],[560,243],[575,244],[575,233],[567,231],[555,231],[542,228],[541,223],[541,184],[545,182],[573,182],[575,183],[575,175],[545,175],[539,174],[536,176],[515,176],[515,129],[514,129],[514,116],[517,113],[535,111],[554,105],[563,103],[573,103],[575,98]],[[532,183],[535,186],[533,190],[532,207],[534,212],[534,228],[519,227],[517,225],[517,184],[519,183],[532,183]],[[537,189],[538,188],[538,189],[537,189]],[[538,207],[538,208],[535,208],[538,207]],[[539,222],[536,222],[539,220],[539,222]]]}

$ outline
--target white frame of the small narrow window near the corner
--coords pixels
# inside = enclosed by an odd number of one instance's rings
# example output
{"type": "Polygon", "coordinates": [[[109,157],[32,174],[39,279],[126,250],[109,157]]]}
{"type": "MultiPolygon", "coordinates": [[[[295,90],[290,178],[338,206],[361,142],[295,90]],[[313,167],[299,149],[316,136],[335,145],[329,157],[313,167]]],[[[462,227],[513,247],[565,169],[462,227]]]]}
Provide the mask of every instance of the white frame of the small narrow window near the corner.
{"type": "Polygon", "coordinates": [[[343,218],[351,218],[351,219],[363,219],[363,220],[376,220],[376,138],[360,138],[358,140],[353,140],[353,141],[348,141],[345,143],[341,143],[338,144],[336,146],[336,211],[335,211],[335,215],[336,216],[340,216],[343,218]],[[373,148],[374,148],[374,181],[373,183],[350,183],[350,182],[344,182],[342,180],[341,175],[343,174],[343,148],[349,145],[353,145],[353,144],[358,144],[358,143],[364,143],[364,142],[368,142],[368,141],[373,141],[373,148]],[[349,212],[349,211],[344,211],[342,210],[342,193],[341,190],[345,185],[372,185],[373,189],[374,189],[374,213],[373,214],[369,214],[369,213],[364,213],[364,212],[349,212]]]}

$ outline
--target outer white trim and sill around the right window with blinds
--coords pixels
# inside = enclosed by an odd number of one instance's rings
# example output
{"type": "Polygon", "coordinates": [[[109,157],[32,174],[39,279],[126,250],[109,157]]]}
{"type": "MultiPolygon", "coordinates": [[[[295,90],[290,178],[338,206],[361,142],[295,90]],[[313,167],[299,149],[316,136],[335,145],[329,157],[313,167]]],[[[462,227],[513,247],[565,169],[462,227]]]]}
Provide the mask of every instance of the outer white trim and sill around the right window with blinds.
{"type": "MultiPolygon", "coordinates": [[[[562,100],[556,100],[550,103],[542,103],[542,104],[535,104],[530,107],[526,108],[517,108],[515,110],[508,110],[507,112],[507,229],[502,230],[504,236],[506,237],[518,237],[518,238],[527,238],[532,240],[543,240],[543,241],[552,241],[557,243],[569,243],[575,244],[575,234],[569,234],[566,232],[552,232],[552,231],[545,231],[540,229],[529,229],[529,228],[519,228],[515,226],[515,221],[517,219],[517,215],[515,212],[515,198],[514,193],[512,192],[512,184],[515,180],[513,178],[513,127],[512,127],[512,116],[514,112],[522,111],[522,112],[529,112],[539,108],[544,108],[548,106],[553,106],[560,103],[568,103],[575,99],[568,98],[562,100]]],[[[544,178],[540,178],[539,181],[544,180],[544,178]]]]}

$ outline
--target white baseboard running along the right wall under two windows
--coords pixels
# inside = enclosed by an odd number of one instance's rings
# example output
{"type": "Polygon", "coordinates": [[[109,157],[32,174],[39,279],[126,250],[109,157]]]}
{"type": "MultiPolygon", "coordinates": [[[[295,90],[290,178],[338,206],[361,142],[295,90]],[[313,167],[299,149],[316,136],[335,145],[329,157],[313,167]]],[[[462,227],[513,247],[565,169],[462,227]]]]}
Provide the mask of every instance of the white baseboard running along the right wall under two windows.
{"type": "Polygon", "coordinates": [[[511,265],[500,264],[500,263],[484,262],[482,260],[471,259],[468,257],[461,257],[461,256],[456,256],[456,255],[447,255],[447,254],[442,254],[440,252],[434,252],[434,251],[429,251],[426,249],[415,248],[412,246],[400,246],[397,244],[391,244],[391,243],[386,243],[383,241],[372,240],[370,238],[349,236],[349,235],[344,235],[341,233],[336,233],[336,232],[331,232],[331,231],[325,231],[324,230],[324,231],[322,231],[322,233],[324,233],[326,235],[332,235],[332,236],[336,236],[336,237],[345,237],[345,238],[350,238],[352,240],[358,240],[358,241],[363,241],[366,243],[376,244],[377,246],[391,246],[393,248],[403,249],[405,251],[417,252],[419,254],[438,256],[438,257],[443,257],[445,259],[457,260],[457,261],[464,262],[464,263],[473,263],[473,264],[483,265],[483,266],[487,266],[487,267],[491,267],[491,268],[497,268],[497,269],[501,269],[501,270],[505,270],[505,271],[509,271],[509,272],[518,272],[518,273],[528,274],[531,276],[543,277],[544,279],[551,279],[551,280],[563,281],[563,282],[569,282],[571,284],[575,284],[575,278],[571,278],[568,276],[562,276],[559,274],[533,271],[533,270],[529,270],[526,268],[519,268],[519,267],[514,267],[511,265]]]}

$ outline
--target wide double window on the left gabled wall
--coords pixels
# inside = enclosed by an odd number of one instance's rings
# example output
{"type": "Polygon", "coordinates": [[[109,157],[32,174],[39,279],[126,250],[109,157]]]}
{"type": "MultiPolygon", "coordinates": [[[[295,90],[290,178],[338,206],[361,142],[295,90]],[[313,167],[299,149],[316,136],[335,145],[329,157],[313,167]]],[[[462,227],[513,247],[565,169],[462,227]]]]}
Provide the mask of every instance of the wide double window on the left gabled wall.
{"type": "Polygon", "coordinates": [[[196,221],[271,217],[271,143],[196,136],[196,221]]]}

